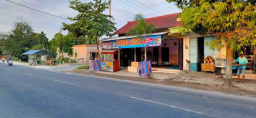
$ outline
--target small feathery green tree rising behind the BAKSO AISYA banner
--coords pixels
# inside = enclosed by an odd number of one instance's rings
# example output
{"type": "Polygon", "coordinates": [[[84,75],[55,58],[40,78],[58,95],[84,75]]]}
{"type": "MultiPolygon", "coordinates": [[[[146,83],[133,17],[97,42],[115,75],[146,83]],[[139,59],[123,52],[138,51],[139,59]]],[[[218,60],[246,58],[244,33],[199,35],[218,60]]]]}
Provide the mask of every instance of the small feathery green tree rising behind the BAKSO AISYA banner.
{"type": "MultiPolygon", "coordinates": [[[[152,23],[147,24],[144,17],[141,14],[137,13],[133,19],[138,23],[128,31],[127,35],[138,35],[139,37],[141,37],[142,34],[148,34],[155,31],[154,25],[152,23]]],[[[144,48],[145,48],[144,55],[146,60],[146,47],[144,48]]]]}

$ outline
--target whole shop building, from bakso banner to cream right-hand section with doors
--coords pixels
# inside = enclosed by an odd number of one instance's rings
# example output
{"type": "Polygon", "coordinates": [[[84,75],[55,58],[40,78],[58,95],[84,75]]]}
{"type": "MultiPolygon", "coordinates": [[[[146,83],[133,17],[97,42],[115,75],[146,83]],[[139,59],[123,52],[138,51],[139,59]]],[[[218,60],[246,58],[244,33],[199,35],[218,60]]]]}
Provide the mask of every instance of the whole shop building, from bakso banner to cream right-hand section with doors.
{"type": "MultiPolygon", "coordinates": [[[[180,70],[201,71],[201,64],[204,62],[205,57],[211,56],[215,60],[216,71],[224,73],[225,46],[220,50],[211,50],[209,48],[208,43],[216,39],[214,34],[180,33],[182,25],[178,15],[179,13],[173,13],[145,18],[147,23],[152,23],[155,26],[156,32],[143,34],[140,37],[126,35],[137,24],[136,21],[128,21],[114,32],[118,36],[101,40],[102,49],[118,50],[119,65],[121,67],[128,66],[129,68],[129,66],[134,65],[134,62],[144,60],[144,47],[146,46],[146,58],[152,62],[152,71],[167,73],[171,73],[171,71],[180,72],[180,70]],[[159,42],[155,41],[155,37],[159,37],[159,42]],[[141,45],[134,44],[132,41],[137,38],[141,38],[142,41],[151,38],[152,42],[149,44],[141,43],[141,45]]],[[[255,58],[255,56],[253,57],[255,58]]],[[[255,71],[255,62],[252,65],[255,71]]]]}

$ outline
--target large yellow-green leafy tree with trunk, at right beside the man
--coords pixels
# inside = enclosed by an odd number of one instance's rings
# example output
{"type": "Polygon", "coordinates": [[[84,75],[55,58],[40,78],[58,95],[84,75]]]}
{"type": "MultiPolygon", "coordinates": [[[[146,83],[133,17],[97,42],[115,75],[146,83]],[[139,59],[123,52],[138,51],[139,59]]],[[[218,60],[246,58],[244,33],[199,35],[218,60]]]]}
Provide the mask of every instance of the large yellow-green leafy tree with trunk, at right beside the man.
{"type": "Polygon", "coordinates": [[[226,46],[225,87],[231,87],[233,52],[256,44],[255,0],[167,0],[182,9],[179,17],[184,31],[214,34],[209,46],[226,46]]]}

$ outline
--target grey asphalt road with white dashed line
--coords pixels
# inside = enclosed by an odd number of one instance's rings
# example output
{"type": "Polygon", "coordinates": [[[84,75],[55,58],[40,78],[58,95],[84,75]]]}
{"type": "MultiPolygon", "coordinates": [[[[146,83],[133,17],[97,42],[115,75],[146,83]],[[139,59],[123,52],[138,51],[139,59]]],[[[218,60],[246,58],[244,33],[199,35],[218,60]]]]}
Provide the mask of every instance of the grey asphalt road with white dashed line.
{"type": "Polygon", "coordinates": [[[0,63],[0,117],[256,117],[256,98],[0,63]]]}

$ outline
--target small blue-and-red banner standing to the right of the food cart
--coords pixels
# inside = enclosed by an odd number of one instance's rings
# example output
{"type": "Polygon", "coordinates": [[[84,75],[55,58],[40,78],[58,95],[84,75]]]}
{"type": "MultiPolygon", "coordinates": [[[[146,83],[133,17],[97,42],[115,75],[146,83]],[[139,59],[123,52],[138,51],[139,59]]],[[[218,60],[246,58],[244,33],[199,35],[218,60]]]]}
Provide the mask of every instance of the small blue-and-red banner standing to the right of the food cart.
{"type": "Polygon", "coordinates": [[[138,62],[138,75],[140,78],[152,78],[151,61],[138,62]]]}

